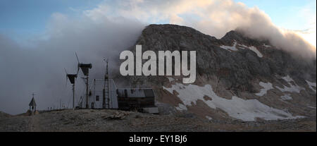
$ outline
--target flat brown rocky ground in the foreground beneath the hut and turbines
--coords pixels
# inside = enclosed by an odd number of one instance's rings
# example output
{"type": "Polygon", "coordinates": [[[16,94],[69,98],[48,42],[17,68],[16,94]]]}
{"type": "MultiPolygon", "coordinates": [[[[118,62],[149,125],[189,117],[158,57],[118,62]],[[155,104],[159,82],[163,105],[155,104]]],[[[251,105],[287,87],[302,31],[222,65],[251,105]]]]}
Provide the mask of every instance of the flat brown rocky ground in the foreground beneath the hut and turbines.
{"type": "MultiPolygon", "coordinates": [[[[2,115],[2,114],[1,114],[2,115]]],[[[0,131],[311,131],[316,116],[282,121],[217,121],[186,114],[154,115],[108,109],[40,112],[1,116],[0,131]]]]}

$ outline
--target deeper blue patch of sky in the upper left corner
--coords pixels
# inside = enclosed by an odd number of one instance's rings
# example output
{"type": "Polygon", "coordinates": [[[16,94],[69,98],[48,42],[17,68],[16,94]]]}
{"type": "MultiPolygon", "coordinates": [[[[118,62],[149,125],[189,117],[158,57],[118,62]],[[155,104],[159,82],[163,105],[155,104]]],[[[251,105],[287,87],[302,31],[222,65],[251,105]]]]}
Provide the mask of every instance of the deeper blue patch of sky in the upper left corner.
{"type": "Polygon", "coordinates": [[[90,9],[101,0],[0,0],[0,33],[25,39],[42,33],[52,13],[75,14],[76,9],[90,9]]]}

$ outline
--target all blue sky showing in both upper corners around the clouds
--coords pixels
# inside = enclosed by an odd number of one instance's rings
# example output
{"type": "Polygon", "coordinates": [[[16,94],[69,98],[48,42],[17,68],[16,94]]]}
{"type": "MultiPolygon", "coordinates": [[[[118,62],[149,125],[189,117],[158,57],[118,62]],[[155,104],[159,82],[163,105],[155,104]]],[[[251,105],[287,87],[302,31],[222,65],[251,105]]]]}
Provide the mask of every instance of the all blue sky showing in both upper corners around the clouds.
{"type": "MultiPolygon", "coordinates": [[[[273,23],[290,30],[305,30],[306,13],[314,13],[315,0],[235,0],[249,7],[257,6],[271,17],[273,23]],[[309,9],[309,12],[304,10],[309,9]]],[[[96,8],[102,0],[0,0],[0,33],[20,41],[44,32],[52,13],[76,15],[96,8]]],[[[108,1],[111,3],[111,1],[108,1]]],[[[316,20],[315,20],[316,23],[316,20]]],[[[316,25],[316,24],[315,24],[316,25]]]]}

